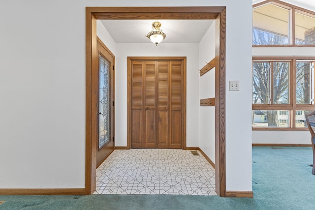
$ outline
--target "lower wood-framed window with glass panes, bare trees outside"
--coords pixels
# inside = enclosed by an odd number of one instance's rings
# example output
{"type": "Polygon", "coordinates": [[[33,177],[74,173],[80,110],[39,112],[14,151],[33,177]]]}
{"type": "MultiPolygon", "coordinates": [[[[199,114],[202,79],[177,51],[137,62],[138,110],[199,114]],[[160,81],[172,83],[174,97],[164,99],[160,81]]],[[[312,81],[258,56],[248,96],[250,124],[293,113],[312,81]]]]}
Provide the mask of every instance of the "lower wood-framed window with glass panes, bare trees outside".
{"type": "Polygon", "coordinates": [[[304,114],[315,110],[315,57],[272,59],[253,57],[252,128],[307,128],[304,114]]]}

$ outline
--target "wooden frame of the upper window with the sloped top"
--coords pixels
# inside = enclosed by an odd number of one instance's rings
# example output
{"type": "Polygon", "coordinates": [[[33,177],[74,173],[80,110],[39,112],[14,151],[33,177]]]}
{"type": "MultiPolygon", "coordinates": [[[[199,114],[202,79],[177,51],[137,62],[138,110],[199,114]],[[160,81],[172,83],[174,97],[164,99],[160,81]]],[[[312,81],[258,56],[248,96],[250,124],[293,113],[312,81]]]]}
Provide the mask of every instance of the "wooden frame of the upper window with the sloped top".
{"type": "Polygon", "coordinates": [[[295,44],[295,12],[307,15],[310,17],[315,18],[315,12],[304,9],[302,7],[298,7],[280,0],[265,0],[260,3],[256,3],[252,5],[252,8],[255,9],[260,6],[264,6],[266,4],[273,4],[279,7],[282,7],[284,9],[289,10],[289,44],[286,45],[252,45],[252,47],[315,47],[315,44],[308,44],[308,45],[303,45],[303,44],[295,44]]]}

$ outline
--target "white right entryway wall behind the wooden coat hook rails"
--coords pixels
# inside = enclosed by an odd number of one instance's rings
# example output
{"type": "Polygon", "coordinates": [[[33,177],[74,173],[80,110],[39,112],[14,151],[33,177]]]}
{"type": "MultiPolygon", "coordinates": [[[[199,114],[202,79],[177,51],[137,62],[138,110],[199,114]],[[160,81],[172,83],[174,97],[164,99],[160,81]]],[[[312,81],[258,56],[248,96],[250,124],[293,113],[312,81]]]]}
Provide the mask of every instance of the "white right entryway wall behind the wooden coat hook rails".
{"type": "MultiPolygon", "coordinates": [[[[199,69],[216,56],[216,22],[199,42],[199,69]]],[[[199,77],[199,99],[215,97],[215,68],[199,77]]],[[[199,107],[199,148],[215,163],[215,107],[199,107]]]]}

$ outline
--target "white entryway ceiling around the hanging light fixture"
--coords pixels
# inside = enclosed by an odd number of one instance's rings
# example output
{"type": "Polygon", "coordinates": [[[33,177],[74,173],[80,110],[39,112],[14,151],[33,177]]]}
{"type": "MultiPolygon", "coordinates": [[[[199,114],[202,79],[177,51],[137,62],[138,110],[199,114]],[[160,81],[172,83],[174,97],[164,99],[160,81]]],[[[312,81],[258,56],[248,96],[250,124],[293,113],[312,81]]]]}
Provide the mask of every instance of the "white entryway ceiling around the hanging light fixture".
{"type": "Polygon", "coordinates": [[[214,20],[101,20],[116,43],[150,43],[145,35],[152,30],[152,23],[161,23],[166,34],[163,42],[199,43],[214,20]]]}

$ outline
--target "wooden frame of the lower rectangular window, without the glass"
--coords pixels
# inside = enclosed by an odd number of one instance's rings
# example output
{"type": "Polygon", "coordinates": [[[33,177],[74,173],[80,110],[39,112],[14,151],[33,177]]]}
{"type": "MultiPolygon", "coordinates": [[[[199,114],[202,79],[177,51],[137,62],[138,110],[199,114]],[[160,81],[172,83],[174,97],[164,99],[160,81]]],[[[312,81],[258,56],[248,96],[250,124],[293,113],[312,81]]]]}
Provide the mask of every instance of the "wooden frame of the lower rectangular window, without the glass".
{"type": "MultiPolygon", "coordinates": [[[[270,62],[270,61],[289,61],[289,101],[288,104],[252,104],[252,111],[255,110],[288,110],[288,127],[252,127],[252,130],[308,130],[305,128],[296,128],[296,111],[315,110],[315,104],[296,104],[296,62],[310,61],[315,63],[315,57],[252,57],[252,69],[254,62],[270,62]]],[[[313,75],[315,77],[315,75],[313,75]]],[[[315,91],[315,86],[311,87],[311,91],[315,91]]]]}

